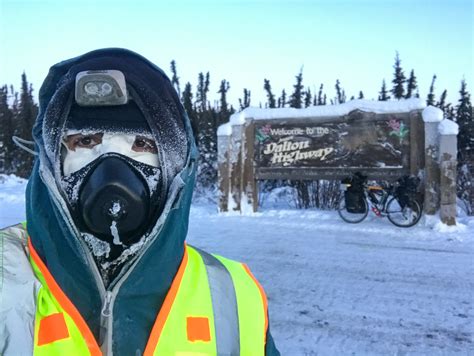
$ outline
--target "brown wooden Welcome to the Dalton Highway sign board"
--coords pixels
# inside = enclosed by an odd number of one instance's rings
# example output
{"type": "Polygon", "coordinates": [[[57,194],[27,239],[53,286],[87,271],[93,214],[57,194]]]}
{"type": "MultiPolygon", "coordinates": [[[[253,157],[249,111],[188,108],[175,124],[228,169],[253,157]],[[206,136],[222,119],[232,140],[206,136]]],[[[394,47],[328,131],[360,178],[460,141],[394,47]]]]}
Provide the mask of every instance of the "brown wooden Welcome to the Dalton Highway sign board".
{"type": "Polygon", "coordinates": [[[408,114],[340,119],[256,120],[254,159],[257,179],[335,178],[361,171],[400,176],[409,171],[408,114]]]}

